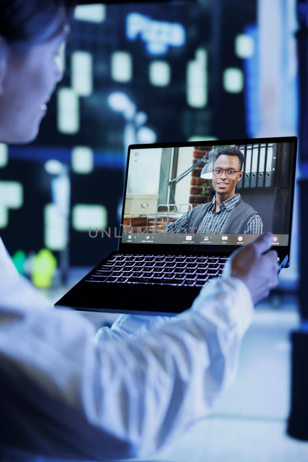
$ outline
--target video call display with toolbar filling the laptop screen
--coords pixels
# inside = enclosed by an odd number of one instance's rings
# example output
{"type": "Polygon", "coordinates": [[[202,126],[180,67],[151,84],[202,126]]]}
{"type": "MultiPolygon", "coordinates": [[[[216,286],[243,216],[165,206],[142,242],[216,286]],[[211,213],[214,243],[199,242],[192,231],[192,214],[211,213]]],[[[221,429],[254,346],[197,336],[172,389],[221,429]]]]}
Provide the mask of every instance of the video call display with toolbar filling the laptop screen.
{"type": "Polygon", "coordinates": [[[132,149],[122,243],[289,243],[295,144],[132,149]]]}

